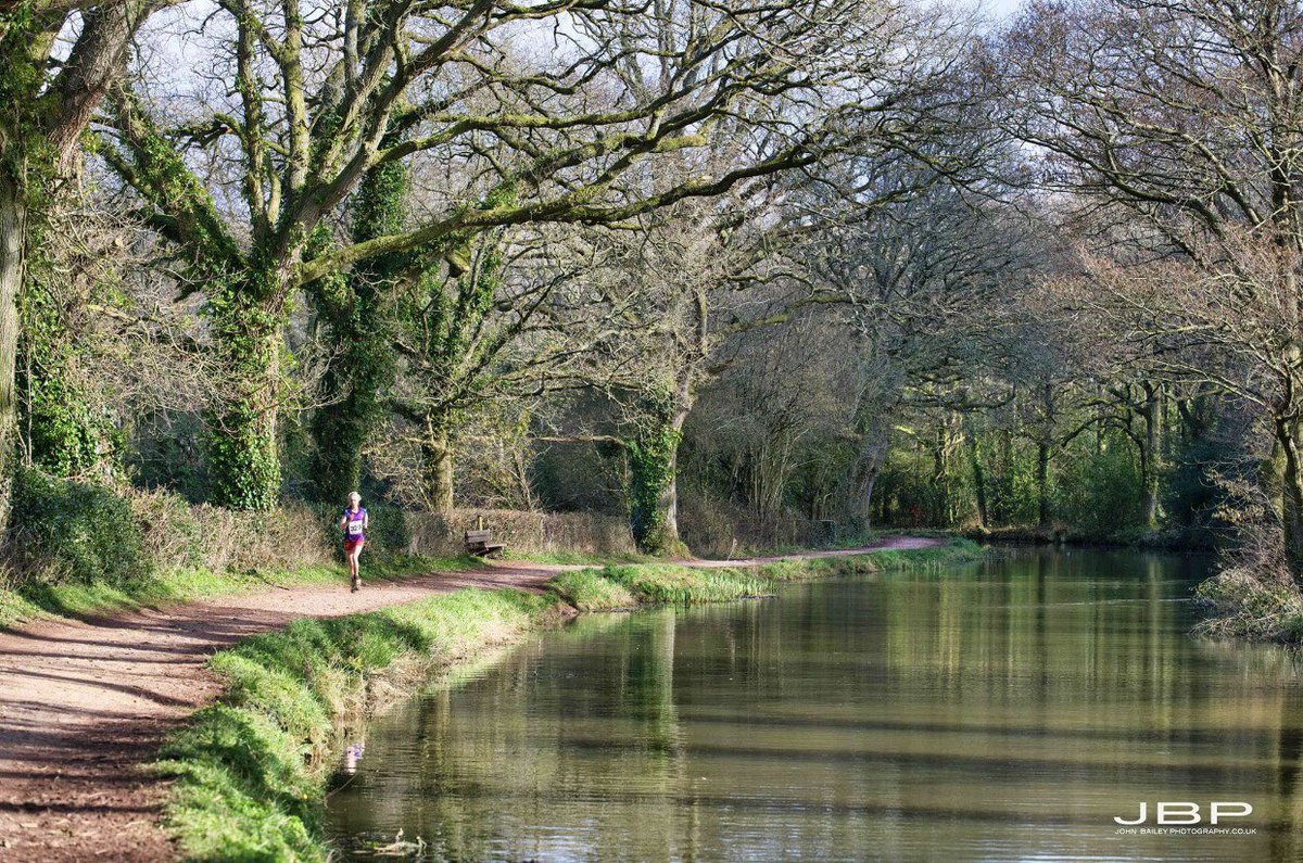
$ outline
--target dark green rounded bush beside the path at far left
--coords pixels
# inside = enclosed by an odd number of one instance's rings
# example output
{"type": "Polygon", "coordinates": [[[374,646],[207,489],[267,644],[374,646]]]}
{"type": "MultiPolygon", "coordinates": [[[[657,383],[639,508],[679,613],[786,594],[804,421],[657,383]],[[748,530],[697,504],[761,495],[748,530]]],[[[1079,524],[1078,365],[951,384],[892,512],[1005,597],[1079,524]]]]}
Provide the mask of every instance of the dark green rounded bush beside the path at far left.
{"type": "Polygon", "coordinates": [[[12,524],[23,568],[50,581],[120,583],[152,571],[130,501],[113,489],[20,469],[12,524]]]}

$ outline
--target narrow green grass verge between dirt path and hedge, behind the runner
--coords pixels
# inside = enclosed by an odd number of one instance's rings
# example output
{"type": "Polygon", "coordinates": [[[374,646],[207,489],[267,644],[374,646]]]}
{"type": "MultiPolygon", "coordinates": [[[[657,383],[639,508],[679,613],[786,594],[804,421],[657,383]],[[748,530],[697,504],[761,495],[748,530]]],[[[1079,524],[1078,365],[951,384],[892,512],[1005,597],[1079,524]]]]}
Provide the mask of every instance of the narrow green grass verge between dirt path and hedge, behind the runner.
{"type": "MultiPolygon", "coordinates": [[[[450,572],[483,566],[472,557],[423,558],[396,557],[362,562],[367,580],[397,580],[422,572],[450,572]]],[[[139,607],[193,602],[218,596],[251,593],[274,587],[309,587],[314,584],[347,584],[348,570],[343,563],[323,563],[287,571],[186,570],[159,576],[117,581],[25,581],[0,589],[0,628],[42,617],[82,618],[139,607]]]]}

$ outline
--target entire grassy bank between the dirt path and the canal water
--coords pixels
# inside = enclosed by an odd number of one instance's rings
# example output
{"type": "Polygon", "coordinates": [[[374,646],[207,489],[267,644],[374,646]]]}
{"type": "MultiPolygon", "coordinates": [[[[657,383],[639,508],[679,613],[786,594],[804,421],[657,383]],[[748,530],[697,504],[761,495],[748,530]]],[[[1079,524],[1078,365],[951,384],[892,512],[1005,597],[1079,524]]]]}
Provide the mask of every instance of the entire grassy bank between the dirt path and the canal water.
{"type": "Polygon", "coordinates": [[[160,753],[172,780],[165,824],[189,860],[324,860],[321,824],[343,717],[360,720],[430,670],[554,624],[575,610],[697,604],[769,593],[843,572],[954,564],[958,540],[919,551],[696,570],[618,563],[564,572],[543,596],[466,589],[328,621],[298,621],[214,656],[222,699],[160,753]]]}

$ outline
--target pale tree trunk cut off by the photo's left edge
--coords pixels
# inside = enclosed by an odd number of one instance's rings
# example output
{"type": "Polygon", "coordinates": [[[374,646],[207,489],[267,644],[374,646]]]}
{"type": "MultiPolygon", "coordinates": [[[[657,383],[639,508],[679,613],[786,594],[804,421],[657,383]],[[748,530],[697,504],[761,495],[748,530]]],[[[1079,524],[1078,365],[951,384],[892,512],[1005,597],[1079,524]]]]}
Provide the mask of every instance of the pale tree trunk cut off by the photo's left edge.
{"type": "Polygon", "coordinates": [[[16,430],[14,361],[18,353],[18,291],[26,263],[27,202],[13,176],[16,166],[0,162],[0,524],[9,518],[16,430]]]}

